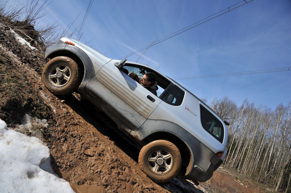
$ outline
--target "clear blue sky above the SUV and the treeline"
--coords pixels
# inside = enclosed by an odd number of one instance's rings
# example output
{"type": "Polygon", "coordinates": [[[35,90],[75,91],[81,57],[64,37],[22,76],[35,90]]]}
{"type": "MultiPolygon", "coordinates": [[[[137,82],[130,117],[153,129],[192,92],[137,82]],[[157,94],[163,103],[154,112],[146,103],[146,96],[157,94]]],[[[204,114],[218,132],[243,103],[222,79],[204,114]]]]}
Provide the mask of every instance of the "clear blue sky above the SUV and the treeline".
{"type": "MultiPolygon", "coordinates": [[[[47,7],[48,22],[58,20],[67,26],[80,14],[75,28],[82,23],[89,2],[55,0],[47,7]]],[[[94,0],[80,41],[107,57],[122,59],[238,2],[94,0]]],[[[136,61],[138,57],[134,54],[127,59],[136,61]]],[[[254,0],[150,47],[141,59],[138,62],[158,68],[173,79],[291,67],[291,1],[254,0]]],[[[247,98],[256,106],[275,110],[291,100],[290,77],[291,68],[176,81],[208,103],[215,97],[229,96],[238,106],[247,98]]]]}

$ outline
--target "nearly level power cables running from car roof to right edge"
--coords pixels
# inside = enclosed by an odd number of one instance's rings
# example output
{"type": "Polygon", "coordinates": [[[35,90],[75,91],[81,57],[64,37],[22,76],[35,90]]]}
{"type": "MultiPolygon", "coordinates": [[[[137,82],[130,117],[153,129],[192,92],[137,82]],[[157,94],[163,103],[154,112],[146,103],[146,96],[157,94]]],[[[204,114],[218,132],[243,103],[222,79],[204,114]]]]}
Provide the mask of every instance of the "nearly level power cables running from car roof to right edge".
{"type": "Polygon", "coordinates": [[[244,75],[244,74],[282,72],[282,71],[291,71],[291,67],[273,68],[273,69],[266,69],[266,70],[253,70],[253,71],[244,71],[244,72],[233,72],[233,73],[224,73],[224,74],[202,75],[202,76],[193,76],[193,77],[180,77],[180,78],[173,78],[173,79],[174,80],[187,80],[187,79],[196,79],[196,78],[225,77],[225,76],[236,76],[236,75],[244,75]]]}

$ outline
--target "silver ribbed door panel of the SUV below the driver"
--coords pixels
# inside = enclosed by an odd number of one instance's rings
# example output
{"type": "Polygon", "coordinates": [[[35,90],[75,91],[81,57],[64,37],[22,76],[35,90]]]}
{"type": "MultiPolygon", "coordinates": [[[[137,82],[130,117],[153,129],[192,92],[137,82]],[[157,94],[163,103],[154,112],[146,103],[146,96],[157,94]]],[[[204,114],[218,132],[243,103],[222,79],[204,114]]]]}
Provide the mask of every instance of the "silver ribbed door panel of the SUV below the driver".
{"type": "MultiPolygon", "coordinates": [[[[134,68],[143,67],[135,65],[134,68]]],[[[96,84],[101,83],[104,87],[93,87],[93,89],[116,116],[122,117],[123,123],[130,129],[137,130],[162,100],[129,77],[130,72],[124,69],[117,68],[114,61],[105,64],[96,74],[99,81],[96,84]]]]}

